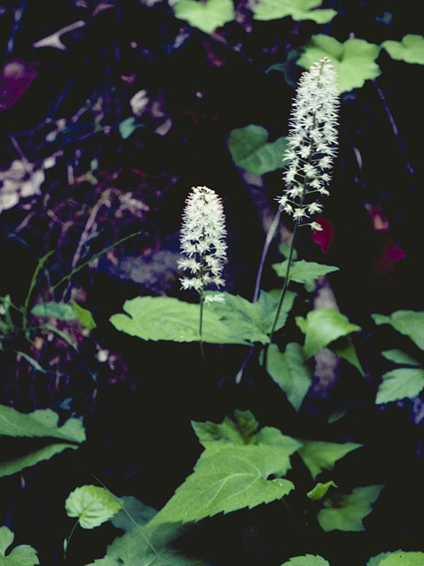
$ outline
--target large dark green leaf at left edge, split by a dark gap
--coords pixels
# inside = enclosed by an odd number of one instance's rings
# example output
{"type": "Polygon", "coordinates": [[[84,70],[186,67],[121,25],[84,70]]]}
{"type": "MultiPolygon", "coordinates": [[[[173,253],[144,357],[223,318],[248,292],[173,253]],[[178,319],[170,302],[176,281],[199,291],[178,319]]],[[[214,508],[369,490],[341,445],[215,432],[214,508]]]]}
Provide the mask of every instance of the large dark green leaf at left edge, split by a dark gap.
{"type": "Polygon", "coordinates": [[[26,415],[0,405],[0,435],[28,439],[20,454],[19,450],[12,456],[7,452],[2,454],[0,477],[48,460],[65,448],[76,449],[86,440],[84,427],[79,419],[70,418],[59,427],[57,420],[57,414],[50,409],[35,410],[26,415]],[[41,438],[44,440],[35,440],[41,438]]]}

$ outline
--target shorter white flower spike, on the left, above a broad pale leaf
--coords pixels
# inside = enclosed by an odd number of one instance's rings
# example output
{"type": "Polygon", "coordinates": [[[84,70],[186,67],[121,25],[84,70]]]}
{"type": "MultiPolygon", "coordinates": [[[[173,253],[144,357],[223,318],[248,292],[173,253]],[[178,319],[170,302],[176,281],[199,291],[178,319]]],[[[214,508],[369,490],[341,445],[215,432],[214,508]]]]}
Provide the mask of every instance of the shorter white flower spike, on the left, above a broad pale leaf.
{"type": "Polygon", "coordinates": [[[209,285],[223,287],[225,234],[220,197],[211,188],[193,187],[186,200],[180,236],[181,253],[186,257],[178,260],[178,267],[193,277],[180,279],[183,289],[194,289],[201,294],[209,285]]]}

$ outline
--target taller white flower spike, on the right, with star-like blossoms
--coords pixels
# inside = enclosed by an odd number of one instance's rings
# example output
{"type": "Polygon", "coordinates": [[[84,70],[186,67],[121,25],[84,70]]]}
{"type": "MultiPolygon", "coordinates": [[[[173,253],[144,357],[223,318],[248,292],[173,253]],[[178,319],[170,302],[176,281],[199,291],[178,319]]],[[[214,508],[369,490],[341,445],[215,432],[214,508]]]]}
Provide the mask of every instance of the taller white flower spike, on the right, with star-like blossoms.
{"type": "MultiPolygon", "coordinates": [[[[337,154],[337,74],[328,57],[314,63],[299,80],[292,104],[285,157],[283,195],[276,200],[295,220],[321,212],[317,196],[328,196],[327,186],[337,154]]],[[[317,222],[300,226],[322,230],[317,222]]]]}

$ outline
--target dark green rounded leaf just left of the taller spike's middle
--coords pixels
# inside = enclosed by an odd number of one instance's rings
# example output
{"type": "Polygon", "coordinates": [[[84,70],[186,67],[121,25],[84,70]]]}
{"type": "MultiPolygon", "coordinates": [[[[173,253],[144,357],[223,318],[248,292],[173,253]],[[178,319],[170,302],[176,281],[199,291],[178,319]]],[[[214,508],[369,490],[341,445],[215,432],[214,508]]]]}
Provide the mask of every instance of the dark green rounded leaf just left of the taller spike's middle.
{"type": "Polygon", "coordinates": [[[228,149],[235,164],[247,172],[263,175],[284,167],[284,137],[268,142],[268,132],[262,126],[250,126],[231,130],[228,149]]]}

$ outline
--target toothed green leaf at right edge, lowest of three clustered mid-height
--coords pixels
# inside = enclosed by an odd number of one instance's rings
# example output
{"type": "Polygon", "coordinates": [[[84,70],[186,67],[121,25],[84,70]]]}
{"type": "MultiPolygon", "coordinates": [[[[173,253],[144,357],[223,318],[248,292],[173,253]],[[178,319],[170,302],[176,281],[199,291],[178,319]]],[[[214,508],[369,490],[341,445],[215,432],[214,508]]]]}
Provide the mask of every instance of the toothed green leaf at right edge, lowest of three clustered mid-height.
{"type": "Polygon", "coordinates": [[[413,399],[424,389],[424,369],[399,368],[382,376],[375,402],[377,404],[413,399]]]}

